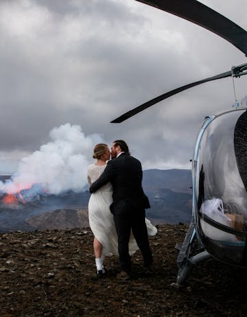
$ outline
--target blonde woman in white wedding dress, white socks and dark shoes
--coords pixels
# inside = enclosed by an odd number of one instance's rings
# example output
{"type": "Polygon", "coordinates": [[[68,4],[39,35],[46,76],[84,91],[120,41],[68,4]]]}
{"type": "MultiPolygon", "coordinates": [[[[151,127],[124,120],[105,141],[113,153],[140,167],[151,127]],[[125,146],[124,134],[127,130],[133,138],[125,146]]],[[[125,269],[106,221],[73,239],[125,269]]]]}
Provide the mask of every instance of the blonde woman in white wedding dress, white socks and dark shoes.
{"type": "MultiPolygon", "coordinates": [[[[88,165],[88,183],[91,185],[103,173],[110,152],[107,144],[99,143],[94,147],[92,156],[96,163],[88,165]]],[[[98,276],[105,274],[103,261],[107,255],[118,255],[118,236],[114,224],[114,216],[109,210],[112,204],[112,185],[107,183],[101,189],[92,193],[88,202],[88,218],[90,228],[94,234],[94,257],[98,276]]],[[[146,219],[148,235],[156,235],[157,228],[146,219]]],[[[129,253],[133,254],[138,250],[133,234],[129,239],[129,253]]]]}

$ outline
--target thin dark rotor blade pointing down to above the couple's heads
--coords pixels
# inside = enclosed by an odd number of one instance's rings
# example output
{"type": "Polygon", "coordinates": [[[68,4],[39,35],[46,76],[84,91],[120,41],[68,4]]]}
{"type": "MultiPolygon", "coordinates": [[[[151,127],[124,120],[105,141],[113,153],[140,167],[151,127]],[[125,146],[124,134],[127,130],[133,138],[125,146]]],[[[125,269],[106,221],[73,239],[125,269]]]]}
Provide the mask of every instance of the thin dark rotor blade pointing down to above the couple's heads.
{"type": "Polygon", "coordinates": [[[163,95],[159,95],[158,97],[155,97],[148,102],[145,102],[144,104],[141,104],[140,106],[133,108],[132,110],[129,110],[127,113],[124,113],[123,115],[120,115],[120,117],[114,119],[111,121],[111,124],[120,124],[122,121],[125,121],[129,119],[130,117],[133,117],[133,115],[136,115],[140,113],[141,111],[145,110],[146,108],[149,108],[153,106],[154,104],[157,104],[158,102],[161,102],[161,100],[164,100],[168,97],[171,97],[172,95],[176,95],[176,93],[180,93],[181,91],[185,91],[185,89],[190,89],[194,86],[203,84],[205,82],[211,82],[212,80],[218,80],[221,78],[230,77],[232,75],[232,71],[226,71],[225,73],[220,73],[218,75],[215,75],[213,77],[205,78],[204,80],[199,80],[198,82],[192,82],[191,84],[187,84],[185,86],[181,86],[179,88],[173,89],[172,91],[168,91],[168,93],[164,93],[163,95]]]}

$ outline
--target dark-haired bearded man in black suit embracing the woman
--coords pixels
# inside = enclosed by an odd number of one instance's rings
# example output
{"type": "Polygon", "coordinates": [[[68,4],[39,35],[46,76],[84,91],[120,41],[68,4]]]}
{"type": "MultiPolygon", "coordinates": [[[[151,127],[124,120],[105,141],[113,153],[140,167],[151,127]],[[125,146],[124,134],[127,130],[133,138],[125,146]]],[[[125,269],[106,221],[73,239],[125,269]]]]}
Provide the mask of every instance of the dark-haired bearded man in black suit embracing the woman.
{"type": "Polygon", "coordinates": [[[151,274],[153,256],[148,242],[145,223],[145,209],[150,208],[148,198],[142,189],[142,165],[129,154],[125,141],[116,140],[112,143],[112,161],[101,176],[92,183],[90,193],[94,193],[108,182],[113,187],[113,202],[110,210],[114,215],[118,234],[118,253],[120,259],[120,279],[129,279],[131,258],[129,256],[129,237],[131,229],[142,252],[144,270],[151,274]]]}

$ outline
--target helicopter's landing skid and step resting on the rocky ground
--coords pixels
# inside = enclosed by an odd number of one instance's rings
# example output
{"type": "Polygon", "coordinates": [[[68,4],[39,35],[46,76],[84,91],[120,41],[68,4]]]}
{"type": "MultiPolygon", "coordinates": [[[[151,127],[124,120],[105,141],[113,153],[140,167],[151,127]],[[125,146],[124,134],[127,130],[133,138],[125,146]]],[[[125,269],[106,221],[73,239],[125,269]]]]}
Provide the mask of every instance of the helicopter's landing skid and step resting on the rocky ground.
{"type": "Polygon", "coordinates": [[[172,283],[171,285],[180,287],[187,279],[192,268],[201,261],[211,258],[211,255],[205,250],[203,244],[196,239],[194,219],[192,219],[190,223],[183,244],[177,244],[175,248],[179,249],[179,255],[177,257],[179,272],[177,274],[177,283],[172,283]]]}

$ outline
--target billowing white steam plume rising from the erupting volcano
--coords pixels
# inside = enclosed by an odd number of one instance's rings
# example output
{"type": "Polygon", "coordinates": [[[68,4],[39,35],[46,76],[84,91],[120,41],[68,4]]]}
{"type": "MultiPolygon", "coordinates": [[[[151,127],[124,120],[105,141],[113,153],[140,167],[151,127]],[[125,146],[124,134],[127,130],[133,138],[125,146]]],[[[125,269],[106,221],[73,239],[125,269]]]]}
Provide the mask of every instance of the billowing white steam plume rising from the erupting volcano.
{"type": "Polygon", "coordinates": [[[36,183],[53,194],[85,187],[94,145],[103,142],[99,134],[86,136],[80,126],[63,124],[53,128],[49,137],[49,143],[22,158],[12,180],[0,183],[1,191],[15,193],[36,183]]]}

